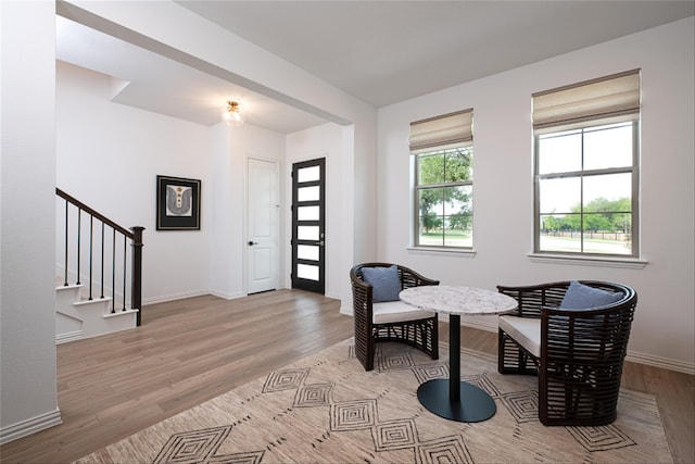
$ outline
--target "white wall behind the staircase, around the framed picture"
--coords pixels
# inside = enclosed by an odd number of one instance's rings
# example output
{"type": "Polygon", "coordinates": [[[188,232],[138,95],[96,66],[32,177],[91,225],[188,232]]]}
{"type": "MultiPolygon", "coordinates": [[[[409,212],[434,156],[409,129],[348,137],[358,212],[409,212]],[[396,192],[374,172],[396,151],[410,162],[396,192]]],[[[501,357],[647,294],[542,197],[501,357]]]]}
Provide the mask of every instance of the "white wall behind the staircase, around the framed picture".
{"type": "Polygon", "coordinates": [[[56,62],[55,185],[124,227],[146,228],[143,303],[207,293],[211,129],[112,103],[109,84],[56,62]],[[200,230],[156,230],[157,174],[202,180],[200,230]]]}

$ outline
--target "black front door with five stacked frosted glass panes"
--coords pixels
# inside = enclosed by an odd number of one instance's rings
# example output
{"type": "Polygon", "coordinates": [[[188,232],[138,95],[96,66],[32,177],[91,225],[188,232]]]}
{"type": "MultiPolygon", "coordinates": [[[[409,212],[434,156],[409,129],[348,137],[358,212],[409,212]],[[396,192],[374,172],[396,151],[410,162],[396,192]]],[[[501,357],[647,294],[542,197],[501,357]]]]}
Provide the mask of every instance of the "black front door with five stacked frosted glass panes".
{"type": "Polygon", "coordinates": [[[292,288],[326,289],[326,159],[292,164],[292,288]]]}

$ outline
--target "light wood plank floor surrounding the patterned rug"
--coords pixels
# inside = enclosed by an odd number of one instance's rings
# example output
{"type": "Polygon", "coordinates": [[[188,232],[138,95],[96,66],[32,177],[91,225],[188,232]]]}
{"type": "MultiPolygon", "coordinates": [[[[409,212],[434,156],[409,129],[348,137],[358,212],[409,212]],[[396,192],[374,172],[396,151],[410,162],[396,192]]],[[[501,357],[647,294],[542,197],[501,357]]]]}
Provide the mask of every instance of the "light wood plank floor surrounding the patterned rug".
{"type": "MultiPolygon", "coordinates": [[[[58,347],[63,424],[0,447],[2,463],[65,463],[352,336],[337,300],[277,290],[146,306],[141,327],[58,347]]],[[[448,341],[448,325],[440,338],[448,341]]],[[[496,334],[462,328],[496,353],[496,334]]],[[[677,463],[695,462],[693,376],[628,363],[623,387],[654,393],[677,463]]]]}

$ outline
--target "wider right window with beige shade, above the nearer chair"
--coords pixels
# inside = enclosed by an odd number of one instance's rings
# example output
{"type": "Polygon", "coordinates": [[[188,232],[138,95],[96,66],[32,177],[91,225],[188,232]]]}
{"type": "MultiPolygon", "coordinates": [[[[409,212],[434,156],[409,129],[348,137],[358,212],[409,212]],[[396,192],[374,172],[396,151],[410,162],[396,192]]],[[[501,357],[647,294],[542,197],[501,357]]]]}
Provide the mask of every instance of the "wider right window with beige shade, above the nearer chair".
{"type": "Polygon", "coordinates": [[[534,252],[637,258],[639,71],[533,96],[534,252]]]}

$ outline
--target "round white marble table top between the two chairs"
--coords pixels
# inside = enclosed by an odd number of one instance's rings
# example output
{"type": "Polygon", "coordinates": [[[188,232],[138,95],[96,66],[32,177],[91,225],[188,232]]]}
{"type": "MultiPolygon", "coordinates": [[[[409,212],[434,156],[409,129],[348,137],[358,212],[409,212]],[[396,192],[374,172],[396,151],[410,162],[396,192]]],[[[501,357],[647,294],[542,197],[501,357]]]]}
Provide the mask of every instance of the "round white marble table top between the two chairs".
{"type": "Polygon", "coordinates": [[[475,287],[426,285],[403,290],[399,297],[413,306],[447,314],[500,314],[517,308],[517,300],[475,287]]]}

